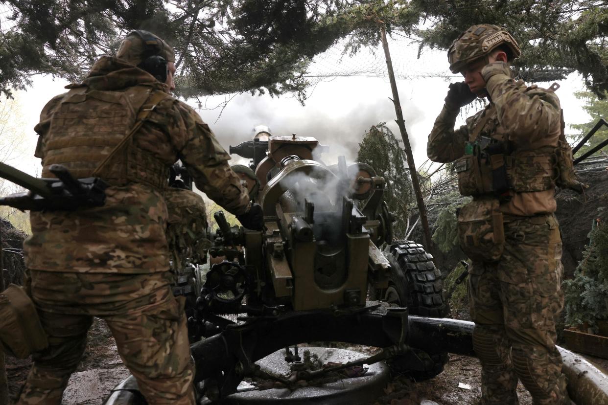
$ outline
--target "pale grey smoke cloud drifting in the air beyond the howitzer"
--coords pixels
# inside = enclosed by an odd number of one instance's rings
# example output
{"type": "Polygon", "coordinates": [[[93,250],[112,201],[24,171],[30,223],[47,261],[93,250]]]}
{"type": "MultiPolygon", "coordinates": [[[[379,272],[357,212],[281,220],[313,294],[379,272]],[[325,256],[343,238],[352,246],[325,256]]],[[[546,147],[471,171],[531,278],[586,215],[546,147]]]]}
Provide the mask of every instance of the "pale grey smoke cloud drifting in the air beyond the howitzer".
{"type": "MultiPolygon", "coordinates": [[[[337,162],[344,155],[348,162],[356,159],[362,135],[370,127],[387,121],[389,128],[400,139],[395,123],[395,108],[390,97],[390,85],[381,78],[338,78],[330,83],[316,86],[305,106],[288,95],[280,98],[242,94],[234,97],[218,118],[221,108],[202,109],[201,117],[212,128],[224,148],[252,140],[255,125],[269,126],[273,135],[315,137],[321,145],[330,146],[322,155],[327,165],[337,162]],[[336,83],[339,81],[339,83],[336,83]],[[340,89],[339,91],[336,91],[340,89]]],[[[224,97],[207,100],[207,107],[215,107],[224,97]],[[215,104],[213,104],[215,102],[215,104]]],[[[410,100],[402,100],[406,126],[411,128],[424,120],[424,112],[410,100]]],[[[423,135],[426,144],[426,132],[423,135]]],[[[410,134],[410,143],[415,149],[418,142],[410,134]]],[[[233,155],[232,163],[243,163],[244,159],[233,155]]]]}

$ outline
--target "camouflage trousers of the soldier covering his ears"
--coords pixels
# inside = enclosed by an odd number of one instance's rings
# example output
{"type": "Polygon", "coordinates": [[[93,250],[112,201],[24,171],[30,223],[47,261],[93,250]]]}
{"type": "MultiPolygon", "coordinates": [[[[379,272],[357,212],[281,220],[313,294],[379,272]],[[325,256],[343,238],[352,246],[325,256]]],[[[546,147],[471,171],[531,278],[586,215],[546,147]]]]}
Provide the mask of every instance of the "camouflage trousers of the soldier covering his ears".
{"type": "Polygon", "coordinates": [[[480,404],[517,404],[517,379],[534,404],[570,404],[556,318],[564,306],[562,243],[553,214],[505,219],[499,262],[469,268],[473,346],[482,363],[480,404]]]}

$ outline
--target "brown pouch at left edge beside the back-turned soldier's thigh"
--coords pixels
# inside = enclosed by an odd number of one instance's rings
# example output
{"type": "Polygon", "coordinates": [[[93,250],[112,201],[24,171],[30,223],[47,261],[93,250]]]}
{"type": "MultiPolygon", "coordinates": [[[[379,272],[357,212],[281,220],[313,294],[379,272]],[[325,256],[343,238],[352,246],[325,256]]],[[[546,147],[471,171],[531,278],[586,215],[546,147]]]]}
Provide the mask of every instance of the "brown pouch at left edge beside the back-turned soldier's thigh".
{"type": "Polygon", "coordinates": [[[49,346],[36,307],[15,284],[0,293],[0,344],[7,355],[21,359],[49,346]]]}

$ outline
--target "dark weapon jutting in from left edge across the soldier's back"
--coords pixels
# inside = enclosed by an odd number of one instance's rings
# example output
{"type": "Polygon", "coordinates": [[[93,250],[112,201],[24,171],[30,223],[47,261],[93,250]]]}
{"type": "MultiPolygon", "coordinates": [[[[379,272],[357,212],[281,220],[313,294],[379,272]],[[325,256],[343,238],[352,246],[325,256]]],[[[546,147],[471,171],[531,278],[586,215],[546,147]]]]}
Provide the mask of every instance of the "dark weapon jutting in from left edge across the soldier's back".
{"type": "Polygon", "coordinates": [[[51,165],[49,171],[57,179],[38,179],[0,163],[0,177],[29,190],[0,198],[0,205],[21,211],[74,211],[105,203],[107,184],[102,179],[75,179],[62,165],[51,165]]]}

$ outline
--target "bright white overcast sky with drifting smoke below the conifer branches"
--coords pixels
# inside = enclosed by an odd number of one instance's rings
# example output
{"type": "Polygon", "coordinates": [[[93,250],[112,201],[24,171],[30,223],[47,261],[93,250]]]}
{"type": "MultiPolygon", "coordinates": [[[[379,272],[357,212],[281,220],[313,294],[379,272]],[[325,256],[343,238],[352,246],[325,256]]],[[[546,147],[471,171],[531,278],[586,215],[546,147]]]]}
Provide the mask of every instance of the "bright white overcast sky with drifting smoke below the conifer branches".
{"type": "MultiPolygon", "coordinates": [[[[397,85],[401,98],[406,129],[413,148],[416,166],[426,160],[426,140],[433,126],[435,117],[441,110],[443,98],[449,81],[461,81],[458,77],[420,77],[420,75],[451,75],[447,70],[447,58],[444,51],[425,50],[420,59],[416,58],[418,44],[409,39],[396,37],[390,40],[393,66],[398,76],[397,85]]],[[[337,155],[344,154],[347,160],[356,157],[358,143],[362,134],[371,125],[387,121],[389,127],[399,138],[395,124],[395,109],[389,97],[392,97],[388,78],[379,77],[385,73],[384,54],[381,50],[375,53],[364,51],[354,58],[344,56],[340,60],[341,47],[319,55],[309,69],[310,75],[331,75],[357,73],[357,76],[326,78],[308,90],[308,100],[302,106],[291,95],[271,98],[268,95],[236,95],[221,107],[232,96],[207,97],[209,109],[200,111],[204,121],[209,123],[224,148],[229,145],[251,139],[255,125],[268,125],[273,134],[289,135],[292,133],[316,137],[323,145],[333,149],[330,156],[324,158],[326,163],[334,163],[337,155]],[[221,112],[221,116],[219,115],[221,112]]],[[[311,78],[311,80],[318,80],[311,78]]],[[[66,90],[67,82],[52,80],[50,77],[35,77],[32,88],[18,92],[21,113],[25,121],[26,145],[29,154],[10,162],[30,174],[36,173],[40,162],[33,158],[36,135],[33,126],[38,122],[40,110],[54,95],[66,90]]],[[[558,95],[564,108],[567,124],[585,122],[589,119],[582,110],[581,103],[573,92],[584,88],[579,75],[573,74],[562,81],[558,95]]],[[[550,83],[539,83],[548,87],[550,83]]],[[[190,102],[195,106],[194,102],[190,102]]],[[[478,106],[477,106],[478,107],[478,106]]],[[[469,109],[472,114],[476,107],[469,109]]],[[[464,115],[461,114],[461,120],[464,115]]],[[[568,132],[568,129],[567,129],[568,132]]],[[[572,132],[572,131],[571,131],[572,132]]],[[[0,145],[1,145],[0,140],[0,145]]],[[[240,158],[235,157],[235,161],[240,158]]],[[[235,162],[236,163],[236,162],[235,162]]],[[[38,169],[40,172],[40,169],[38,169]]]]}

